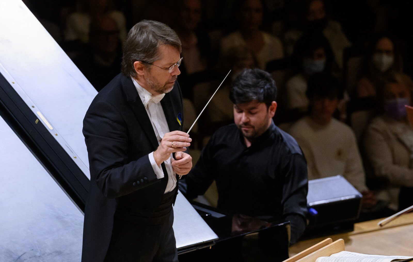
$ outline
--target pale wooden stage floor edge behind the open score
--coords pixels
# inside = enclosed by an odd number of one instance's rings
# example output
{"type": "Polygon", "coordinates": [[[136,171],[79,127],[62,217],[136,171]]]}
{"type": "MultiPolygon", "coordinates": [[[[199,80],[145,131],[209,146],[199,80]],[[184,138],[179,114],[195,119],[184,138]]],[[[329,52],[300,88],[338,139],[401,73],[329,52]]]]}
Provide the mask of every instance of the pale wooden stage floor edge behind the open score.
{"type": "Polygon", "coordinates": [[[290,257],[331,238],[344,239],[345,249],[351,252],[377,255],[413,256],[413,213],[405,214],[384,227],[382,219],[354,224],[354,231],[299,241],[290,247],[290,257]]]}

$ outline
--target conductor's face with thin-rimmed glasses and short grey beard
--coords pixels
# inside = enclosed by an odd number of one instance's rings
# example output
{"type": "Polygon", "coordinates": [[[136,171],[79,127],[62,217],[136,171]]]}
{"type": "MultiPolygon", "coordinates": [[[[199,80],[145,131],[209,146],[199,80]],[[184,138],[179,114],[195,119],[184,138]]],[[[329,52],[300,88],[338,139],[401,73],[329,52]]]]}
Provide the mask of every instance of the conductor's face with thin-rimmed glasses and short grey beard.
{"type": "Polygon", "coordinates": [[[154,61],[152,65],[144,64],[139,61],[134,63],[138,74],[138,83],[152,94],[168,93],[173,89],[175,80],[180,74],[176,65],[171,73],[169,68],[176,64],[180,59],[179,50],[169,44],[162,44],[158,47],[160,59],[154,61]]]}

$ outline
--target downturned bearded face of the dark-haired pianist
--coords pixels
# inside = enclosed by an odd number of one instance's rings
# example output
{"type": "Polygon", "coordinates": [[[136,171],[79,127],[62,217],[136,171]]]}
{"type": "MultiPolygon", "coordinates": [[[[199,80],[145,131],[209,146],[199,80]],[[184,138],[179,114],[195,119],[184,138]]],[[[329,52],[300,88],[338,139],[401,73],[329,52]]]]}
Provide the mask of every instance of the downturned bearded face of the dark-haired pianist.
{"type": "Polygon", "coordinates": [[[276,109],[275,101],[268,108],[257,100],[237,104],[234,105],[234,122],[245,138],[256,138],[268,129],[276,109]]]}

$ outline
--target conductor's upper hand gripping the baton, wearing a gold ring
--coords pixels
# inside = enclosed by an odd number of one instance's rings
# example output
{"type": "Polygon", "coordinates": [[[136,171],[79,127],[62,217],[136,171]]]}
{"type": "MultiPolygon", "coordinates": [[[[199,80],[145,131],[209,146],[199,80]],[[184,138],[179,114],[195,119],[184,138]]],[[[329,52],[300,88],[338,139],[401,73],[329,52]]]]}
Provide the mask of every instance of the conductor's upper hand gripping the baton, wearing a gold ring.
{"type": "Polygon", "coordinates": [[[172,131],[166,133],[162,138],[159,147],[154,152],[154,160],[159,166],[163,161],[168,160],[173,152],[183,152],[189,147],[192,139],[182,131],[172,131]]]}

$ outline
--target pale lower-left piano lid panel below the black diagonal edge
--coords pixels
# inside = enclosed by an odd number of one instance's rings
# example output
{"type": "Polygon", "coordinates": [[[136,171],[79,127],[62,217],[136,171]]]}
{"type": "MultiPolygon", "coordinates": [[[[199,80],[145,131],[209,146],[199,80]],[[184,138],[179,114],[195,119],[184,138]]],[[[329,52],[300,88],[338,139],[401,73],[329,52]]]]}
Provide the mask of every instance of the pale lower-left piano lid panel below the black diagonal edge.
{"type": "Polygon", "coordinates": [[[0,117],[0,261],[80,261],[83,215],[0,117]]]}

